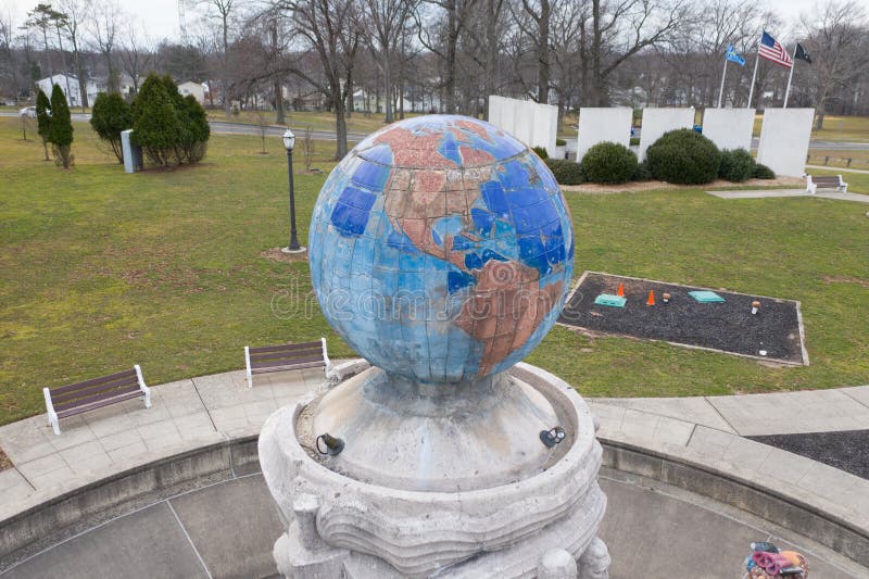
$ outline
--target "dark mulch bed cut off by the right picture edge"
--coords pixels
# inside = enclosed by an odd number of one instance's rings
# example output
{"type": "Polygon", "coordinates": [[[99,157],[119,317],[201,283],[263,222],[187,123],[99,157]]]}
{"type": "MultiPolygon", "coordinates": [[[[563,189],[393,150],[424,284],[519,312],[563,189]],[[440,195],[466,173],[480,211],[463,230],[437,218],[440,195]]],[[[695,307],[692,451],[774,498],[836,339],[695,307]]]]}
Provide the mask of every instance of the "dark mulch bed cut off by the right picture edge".
{"type": "Polygon", "coordinates": [[[869,480],[869,430],[748,438],[869,480]]]}

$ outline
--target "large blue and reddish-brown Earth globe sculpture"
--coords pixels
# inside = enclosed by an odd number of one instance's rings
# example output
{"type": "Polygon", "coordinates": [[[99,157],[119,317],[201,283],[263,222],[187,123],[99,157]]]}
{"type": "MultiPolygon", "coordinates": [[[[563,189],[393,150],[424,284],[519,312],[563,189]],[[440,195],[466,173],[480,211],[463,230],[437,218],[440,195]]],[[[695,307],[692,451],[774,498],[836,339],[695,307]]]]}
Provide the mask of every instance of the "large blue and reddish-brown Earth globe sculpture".
{"type": "Polygon", "coordinates": [[[552,328],[574,231],[536,153],[488,123],[430,115],[370,135],[335,167],[308,252],[324,315],[371,364],[415,382],[474,381],[552,328]]]}

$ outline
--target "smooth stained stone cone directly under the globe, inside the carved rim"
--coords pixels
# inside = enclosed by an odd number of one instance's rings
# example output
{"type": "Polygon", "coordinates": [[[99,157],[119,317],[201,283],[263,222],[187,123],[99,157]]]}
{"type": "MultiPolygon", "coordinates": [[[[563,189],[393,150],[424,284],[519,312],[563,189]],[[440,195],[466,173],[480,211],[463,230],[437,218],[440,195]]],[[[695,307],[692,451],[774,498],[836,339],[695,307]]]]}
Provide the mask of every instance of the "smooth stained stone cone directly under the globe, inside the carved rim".
{"type": "Polygon", "coordinates": [[[315,457],[350,478],[452,492],[542,471],[553,452],[540,431],[557,424],[546,397],[507,373],[428,386],[369,368],[306,405],[297,438],[313,449],[324,432],[340,437],[339,455],[315,457]]]}

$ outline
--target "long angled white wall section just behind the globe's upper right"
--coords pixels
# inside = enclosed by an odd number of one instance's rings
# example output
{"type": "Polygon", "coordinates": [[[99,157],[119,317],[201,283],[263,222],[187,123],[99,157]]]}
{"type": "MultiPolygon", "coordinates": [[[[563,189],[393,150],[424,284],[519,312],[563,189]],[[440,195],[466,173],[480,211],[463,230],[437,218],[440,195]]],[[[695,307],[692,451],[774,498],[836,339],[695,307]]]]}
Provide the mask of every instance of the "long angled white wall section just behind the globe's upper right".
{"type": "Polygon", "coordinates": [[[543,147],[550,154],[555,152],[557,106],[493,95],[489,97],[489,123],[528,147],[543,147]]]}

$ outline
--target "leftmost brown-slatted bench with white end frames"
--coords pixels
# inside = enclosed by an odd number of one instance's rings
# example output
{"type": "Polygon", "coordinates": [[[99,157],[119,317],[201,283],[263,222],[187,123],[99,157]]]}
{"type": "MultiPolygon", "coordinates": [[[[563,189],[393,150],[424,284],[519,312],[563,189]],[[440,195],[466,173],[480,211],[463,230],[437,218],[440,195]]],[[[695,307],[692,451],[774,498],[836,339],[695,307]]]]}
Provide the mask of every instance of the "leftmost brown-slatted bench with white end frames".
{"type": "Polygon", "coordinates": [[[48,424],[54,433],[61,433],[60,419],[129,400],[144,398],[144,407],[151,407],[151,389],[144,386],[139,365],[133,369],[93,378],[84,382],[55,388],[43,388],[48,424]]]}

